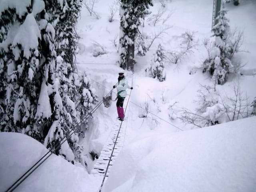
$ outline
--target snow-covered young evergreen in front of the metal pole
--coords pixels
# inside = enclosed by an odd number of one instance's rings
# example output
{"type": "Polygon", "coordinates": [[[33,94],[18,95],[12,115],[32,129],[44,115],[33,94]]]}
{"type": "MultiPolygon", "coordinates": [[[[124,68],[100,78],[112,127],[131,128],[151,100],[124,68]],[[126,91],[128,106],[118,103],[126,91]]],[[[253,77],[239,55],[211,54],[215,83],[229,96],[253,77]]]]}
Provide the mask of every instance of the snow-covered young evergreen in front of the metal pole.
{"type": "Polygon", "coordinates": [[[218,23],[212,28],[215,42],[210,52],[210,58],[204,61],[203,72],[209,72],[217,84],[226,82],[229,69],[232,66],[229,58],[233,50],[228,42],[230,26],[226,13],[226,10],[221,10],[220,15],[216,18],[218,23]]]}

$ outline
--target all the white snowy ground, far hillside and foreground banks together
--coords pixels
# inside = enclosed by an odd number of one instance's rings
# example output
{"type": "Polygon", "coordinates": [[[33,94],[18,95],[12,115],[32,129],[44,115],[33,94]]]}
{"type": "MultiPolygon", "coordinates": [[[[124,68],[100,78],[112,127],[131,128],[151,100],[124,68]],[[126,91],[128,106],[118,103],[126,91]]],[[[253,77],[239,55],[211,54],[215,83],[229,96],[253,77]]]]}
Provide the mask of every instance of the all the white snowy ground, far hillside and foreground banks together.
{"type": "MultiPolygon", "coordinates": [[[[114,21],[108,22],[108,6],[113,2],[99,0],[95,4],[95,11],[100,19],[90,16],[83,7],[77,25],[77,32],[81,37],[77,55],[78,70],[81,73],[87,72],[99,98],[116,84],[120,70],[116,64],[119,60],[118,53],[111,43],[119,34],[118,12],[114,21]],[[94,57],[99,49],[105,49],[106,53],[94,57]]],[[[159,7],[160,4],[154,1],[150,10],[154,14],[159,7]]],[[[232,95],[233,84],[239,80],[242,93],[252,101],[256,96],[256,2],[241,0],[237,7],[231,3],[226,4],[226,9],[231,28],[238,27],[244,31],[242,49],[249,52],[239,52],[236,55],[236,59],[246,65],[238,74],[230,74],[228,82],[217,86],[217,89],[223,94],[232,95]]],[[[200,68],[207,56],[203,40],[212,36],[212,0],[172,0],[167,3],[166,14],[169,12],[172,15],[165,24],[160,22],[156,26],[149,26],[145,22],[145,27],[140,28],[141,32],[150,35],[165,26],[172,26],[162,38],[154,42],[146,56],[136,56],[134,89],[131,92],[129,116],[126,117],[128,123],[124,148],[103,191],[254,192],[255,117],[202,129],[194,129],[196,127],[192,125],[184,125],[178,119],[169,118],[168,108],[171,104],[178,102],[179,108],[195,110],[194,100],[200,84],[212,85],[210,76],[203,74],[200,68]],[[145,69],[150,66],[158,44],[161,43],[168,50],[176,50],[180,35],[186,31],[195,32],[198,39],[194,54],[184,58],[178,66],[166,64],[164,82],[145,77],[145,69]],[[190,74],[191,71],[193,73],[190,74]],[[150,112],[184,131],[152,114],[147,118],[138,118],[143,113],[138,106],[144,108],[145,101],[150,104],[150,112]]],[[[131,72],[127,72],[126,76],[131,82],[131,72]]],[[[93,150],[100,154],[116,122],[116,116],[114,103],[110,108],[101,106],[94,114],[82,143],[88,157],[88,170],[53,155],[17,191],[98,191],[102,177],[90,174],[95,161],[88,153],[93,150]]],[[[0,191],[6,190],[13,180],[47,151],[39,142],[18,133],[0,133],[0,147],[0,191]],[[17,145],[26,150],[18,150],[17,145]]]]}

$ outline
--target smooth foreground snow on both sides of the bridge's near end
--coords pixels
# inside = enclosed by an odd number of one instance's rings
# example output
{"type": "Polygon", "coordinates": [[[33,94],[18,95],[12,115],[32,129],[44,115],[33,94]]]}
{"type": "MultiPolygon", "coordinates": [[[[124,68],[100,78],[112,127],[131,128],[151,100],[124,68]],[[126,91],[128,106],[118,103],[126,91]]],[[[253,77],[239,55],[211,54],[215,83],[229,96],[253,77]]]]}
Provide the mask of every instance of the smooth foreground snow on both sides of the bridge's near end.
{"type": "MultiPolygon", "coordinates": [[[[252,117],[176,134],[138,135],[120,152],[103,191],[254,192],[255,124],[252,117]]],[[[0,191],[47,152],[19,133],[0,133],[0,146],[0,191]]],[[[17,191],[96,192],[101,179],[52,155],[17,191]]]]}

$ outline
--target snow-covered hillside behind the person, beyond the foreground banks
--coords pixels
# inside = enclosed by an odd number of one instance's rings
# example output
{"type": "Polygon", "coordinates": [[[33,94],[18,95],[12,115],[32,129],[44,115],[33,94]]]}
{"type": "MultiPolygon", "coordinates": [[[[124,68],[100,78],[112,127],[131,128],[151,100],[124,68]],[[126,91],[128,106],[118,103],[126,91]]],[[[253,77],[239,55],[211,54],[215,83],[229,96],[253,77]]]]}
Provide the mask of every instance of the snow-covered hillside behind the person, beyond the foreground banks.
{"type": "MultiPolygon", "coordinates": [[[[112,86],[116,83],[118,71],[118,53],[116,48],[111,43],[116,35],[119,34],[119,16],[118,13],[114,16],[113,22],[108,22],[108,6],[114,1],[99,0],[95,4],[95,10],[100,14],[101,18],[96,18],[89,15],[86,8],[81,12],[81,19],[78,22],[78,34],[80,39],[80,53],[78,54],[78,69],[85,70],[92,84],[96,88],[99,99],[106,95],[112,86]],[[106,49],[106,54],[94,57],[94,50],[97,50],[97,43],[106,49]],[[95,82],[97,81],[97,82],[95,82]]],[[[184,125],[180,120],[170,120],[169,106],[176,104],[177,109],[186,107],[190,110],[196,108],[194,100],[197,99],[197,90],[200,84],[212,85],[212,80],[208,74],[203,74],[202,62],[207,56],[207,52],[203,46],[204,38],[210,38],[211,22],[212,22],[212,0],[172,0],[167,4],[168,8],[164,17],[172,12],[171,17],[165,22],[150,26],[145,22],[145,27],[140,28],[140,31],[148,35],[158,32],[164,27],[172,26],[163,34],[161,38],[156,39],[146,56],[136,56],[137,64],[135,66],[134,81],[130,102],[130,112],[128,117],[128,129],[125,143],[128,145],[136,135],[154,132],[158,134],[166,130],[172,132],[180,131],[170,124],[160,120],[156,116],[149,114],[147,118],[138,118],[144,111],[139,108],[145,108],[145,102],[150,105],[150,112],[160,116],[164,120],[171,122],[182,130],[194,128],[192,125],[184,125]],[[145,76],[145,69],[150,66],[150,60],[159,43],[166,50],[176,50],[180,43],[180,35],[186,31],[195,32],[195,37],[198,40],[198,46],[194,53],[184,58],[178,66],[175,64],[166,64],[166,81],[158,82],[145,76]],[[193,71],[192,74],[190,72],[193,71]],[[153,101],[154,100],[154,101],[153,101]],[[138,106],[136,106],[137,104],[138,106]]],[[[154,1],[154,6],[150,8],[152,14],[156,13],[160,4],[154,1]]],[[[253,0],[241,0],[239,6],[226,4],[228,11],[227,17],[230,18],[231,28],[240,28],[244,31],[244,43],[242,50],[250,52],[239,52],[237,59],[242,65],[246,64],[242,69],[243,76],[230,74],[228,82],[223,86],[217,86],[217,89],[223,94],[233,95],[232,92],[234,81],[239,79],[242,93],[248,96],[248,100],[256,96],[254,85],[256,78],[254,71],[256,70],[256,3],[253,0]],[[246,21],[246,22],[244,22],[246,21]],[[248,74],[248,75],[246,75],[248,74]]],[[[118,38],[117,38],[118,43],[118,38]]],[[[131,73],[127,72],[131,79],[131,73]]],[[[114,98],[115,96],[113,96],[114,98]]],[[[112,125],[116,121],[116,107],[113,102],[110,108],[102,106],[94,116],[90,130],[88,130],[85,139],[85,148],[90,152],[94,150],[98,154],[102,150],[103,144],[106,142],[112,125]]],[[[88,158],[89,171],[93,167],[94,162],[88,158]]]]}

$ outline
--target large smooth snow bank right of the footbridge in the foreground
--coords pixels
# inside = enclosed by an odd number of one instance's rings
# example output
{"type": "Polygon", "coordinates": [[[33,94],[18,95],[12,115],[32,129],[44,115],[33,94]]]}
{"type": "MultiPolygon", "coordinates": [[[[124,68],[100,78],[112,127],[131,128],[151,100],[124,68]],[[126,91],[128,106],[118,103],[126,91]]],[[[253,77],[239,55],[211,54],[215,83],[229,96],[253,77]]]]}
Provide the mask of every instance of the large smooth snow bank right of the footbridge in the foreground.
{"type": "Polygon", "coordinates": [[[104,192],[252,192],[256,117],[137,138],[120,152],[104,192]]]}

